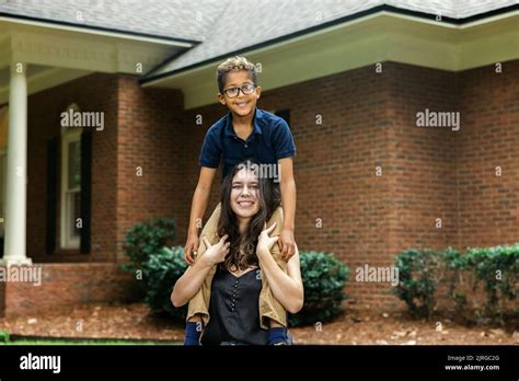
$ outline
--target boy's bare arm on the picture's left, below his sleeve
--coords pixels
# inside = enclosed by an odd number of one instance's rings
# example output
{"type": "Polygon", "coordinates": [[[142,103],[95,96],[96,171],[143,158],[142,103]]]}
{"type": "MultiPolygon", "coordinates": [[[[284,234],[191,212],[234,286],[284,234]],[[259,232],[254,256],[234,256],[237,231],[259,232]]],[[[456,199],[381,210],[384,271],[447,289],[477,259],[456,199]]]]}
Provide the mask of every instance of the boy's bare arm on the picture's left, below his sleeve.
{"type": "Polygon", "coordinates": [[[198,228],[201,227],[201,218],[207,209],[207,203],[209,201],[209,194],[211,193],[211,185],[216,173],[216,169],[203,166],[195,194],[193,195],[189,226],[187,227],[187,242],[184,247],[184,259],[189,265],[195,263],[192,252],[196,254],[196,250],[198,249],[198,228]]]}

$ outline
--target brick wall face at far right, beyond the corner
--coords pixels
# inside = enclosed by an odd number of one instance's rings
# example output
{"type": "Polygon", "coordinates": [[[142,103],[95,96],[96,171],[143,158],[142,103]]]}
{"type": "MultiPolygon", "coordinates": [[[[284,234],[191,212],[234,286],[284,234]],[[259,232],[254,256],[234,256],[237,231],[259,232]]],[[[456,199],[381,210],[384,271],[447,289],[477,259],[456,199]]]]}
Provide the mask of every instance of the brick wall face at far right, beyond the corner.
{"type": "Polygon", "coordinates": [[[504,62],[501,73],[464,71],[459,84],[458,244],[519,242],[519,60],[504,62]]]}

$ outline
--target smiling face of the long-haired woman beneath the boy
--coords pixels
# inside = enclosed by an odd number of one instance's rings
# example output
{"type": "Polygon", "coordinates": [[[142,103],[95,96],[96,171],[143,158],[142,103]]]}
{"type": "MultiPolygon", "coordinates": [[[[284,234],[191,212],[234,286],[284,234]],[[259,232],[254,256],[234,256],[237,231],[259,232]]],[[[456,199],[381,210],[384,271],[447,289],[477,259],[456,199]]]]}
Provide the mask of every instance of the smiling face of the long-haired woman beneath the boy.
{"type": "Polygon", "coordinates": [[[260,185],[254,171],[242,169],[232,178],[230,205],[239,218],[250,219],[260,210],[260,185]]]}

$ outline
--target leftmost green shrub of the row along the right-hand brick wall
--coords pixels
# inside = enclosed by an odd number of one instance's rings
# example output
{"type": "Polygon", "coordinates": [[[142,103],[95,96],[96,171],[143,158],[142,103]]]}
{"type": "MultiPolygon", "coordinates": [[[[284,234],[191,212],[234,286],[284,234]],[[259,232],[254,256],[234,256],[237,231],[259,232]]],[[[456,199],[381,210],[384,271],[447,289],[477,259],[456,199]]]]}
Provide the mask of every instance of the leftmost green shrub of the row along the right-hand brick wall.
{"type": "Polygon", "coordinates": [[[396,256],[399,285],[393,292],[402,299],[416,316],[430,319],[436,310],[436,290],[450,264],[457,261],[455,250],[445,251],[411,249],[396,256]]]}

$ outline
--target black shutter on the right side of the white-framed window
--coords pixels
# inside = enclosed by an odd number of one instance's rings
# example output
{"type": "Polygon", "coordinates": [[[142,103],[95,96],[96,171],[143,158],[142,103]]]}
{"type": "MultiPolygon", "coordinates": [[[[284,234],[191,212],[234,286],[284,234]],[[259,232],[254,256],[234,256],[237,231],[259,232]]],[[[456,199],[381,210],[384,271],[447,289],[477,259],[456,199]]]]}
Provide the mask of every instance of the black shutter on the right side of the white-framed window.
{"type": "Polygon", "coordinates": [[[92,132],[81,134],[81,253],[90,253],[92,200],[92,132]]]}

